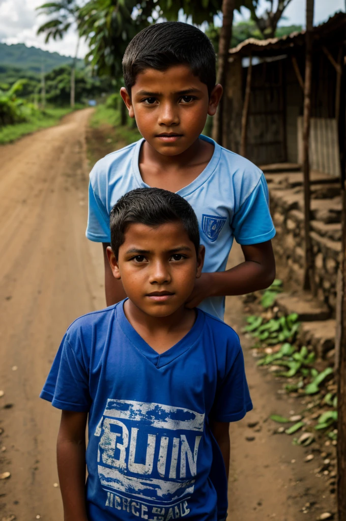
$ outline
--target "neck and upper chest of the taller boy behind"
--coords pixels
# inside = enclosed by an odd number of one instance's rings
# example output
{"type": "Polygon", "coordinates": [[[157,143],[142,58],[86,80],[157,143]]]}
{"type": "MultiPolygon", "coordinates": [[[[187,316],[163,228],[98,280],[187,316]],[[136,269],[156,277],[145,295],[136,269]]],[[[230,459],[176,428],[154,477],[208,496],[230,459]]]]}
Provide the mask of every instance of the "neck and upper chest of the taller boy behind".
{"type": "Polygon", "coordinates": [[[160,154],[144,141],[139,157],[141,177],[150,187],[178,192],[200,175],[213,153],[214,145],[200,138],[177,155],[160,154]]]}

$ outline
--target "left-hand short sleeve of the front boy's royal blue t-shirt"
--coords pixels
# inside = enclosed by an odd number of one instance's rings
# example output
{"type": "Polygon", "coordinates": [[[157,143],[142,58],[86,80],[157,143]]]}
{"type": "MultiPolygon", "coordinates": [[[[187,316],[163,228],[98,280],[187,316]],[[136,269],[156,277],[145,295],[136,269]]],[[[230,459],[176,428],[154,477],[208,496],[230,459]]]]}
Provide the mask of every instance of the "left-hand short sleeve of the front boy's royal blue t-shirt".
{"type": "Polygon", "coordinates": [[[65,334],[40,394],[64,411],[86,412],[91,404],[88,370],[78,348],[72,348],[65,334]]]}

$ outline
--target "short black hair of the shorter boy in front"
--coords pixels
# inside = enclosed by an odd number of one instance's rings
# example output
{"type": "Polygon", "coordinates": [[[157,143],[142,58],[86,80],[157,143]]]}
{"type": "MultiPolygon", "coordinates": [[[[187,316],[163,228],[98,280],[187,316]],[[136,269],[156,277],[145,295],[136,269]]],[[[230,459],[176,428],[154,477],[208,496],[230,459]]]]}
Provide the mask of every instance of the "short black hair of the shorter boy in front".
{"type": "Polygon", "coordinates": [[[160,226],[181,222],[196,254],[200,249],[200,231],[192,206],[180,195],[161,188],[137,188],[120,197],[110,212],[110,245],[116,257],[125,242],[126,229],[131,224],[160,226]]]}

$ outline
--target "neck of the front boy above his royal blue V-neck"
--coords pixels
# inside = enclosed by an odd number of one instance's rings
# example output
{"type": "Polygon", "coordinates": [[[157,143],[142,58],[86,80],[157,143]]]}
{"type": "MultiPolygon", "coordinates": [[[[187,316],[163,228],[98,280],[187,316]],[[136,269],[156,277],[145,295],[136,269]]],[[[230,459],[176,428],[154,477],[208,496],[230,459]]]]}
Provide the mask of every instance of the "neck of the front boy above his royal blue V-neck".
{"type": "Polygon", "coordinates": [[[124,304],[124,313],[135,331],[159,354],[186,336],[196,318],[195,310],[184,306],[166,317],[151,316],[129,299],[124,304]]]}

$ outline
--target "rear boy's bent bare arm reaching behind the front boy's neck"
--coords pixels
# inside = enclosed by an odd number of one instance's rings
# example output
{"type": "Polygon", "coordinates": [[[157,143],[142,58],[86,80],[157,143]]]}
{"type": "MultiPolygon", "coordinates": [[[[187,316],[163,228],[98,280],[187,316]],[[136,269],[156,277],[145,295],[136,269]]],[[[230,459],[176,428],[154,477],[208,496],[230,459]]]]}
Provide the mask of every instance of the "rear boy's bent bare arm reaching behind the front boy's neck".
{"type": "Polygon", "coordinates": [[[193,308],[208,296],[243,295],[268,288],[275,279],[271,241],[241,246],[245,261],[227,271],[202,273],[186,304],[193,308]]]}

